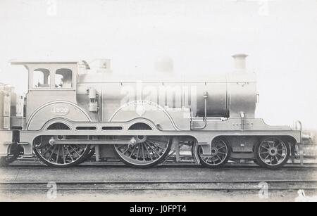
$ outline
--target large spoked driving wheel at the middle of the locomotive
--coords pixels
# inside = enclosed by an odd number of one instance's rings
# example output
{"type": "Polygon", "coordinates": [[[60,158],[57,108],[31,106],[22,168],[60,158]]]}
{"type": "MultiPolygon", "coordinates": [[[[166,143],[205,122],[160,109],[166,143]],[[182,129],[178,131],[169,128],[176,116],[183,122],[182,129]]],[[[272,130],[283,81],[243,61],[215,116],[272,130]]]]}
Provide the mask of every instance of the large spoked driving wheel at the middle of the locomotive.
{"type": "Polygon", "coordinates": [[[150,167],[161,163],[170,152],[169,136],[135,136],[133,145],[115,145],[123,163],[133,167],[150,167]]]}

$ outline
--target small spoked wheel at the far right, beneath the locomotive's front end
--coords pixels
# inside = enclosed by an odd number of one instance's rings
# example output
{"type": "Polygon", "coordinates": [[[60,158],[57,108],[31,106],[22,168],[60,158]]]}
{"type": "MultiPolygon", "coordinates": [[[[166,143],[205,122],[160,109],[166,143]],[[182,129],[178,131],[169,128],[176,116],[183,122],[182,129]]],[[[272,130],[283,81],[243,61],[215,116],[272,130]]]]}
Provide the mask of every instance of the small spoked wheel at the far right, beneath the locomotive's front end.
{"type": "Polygon", "coordinates": [[[282,139],[268,137],[256,146],[254,156],[261,167],[271,169],[282,167],[290,158],[290,146],[282,139]]]}

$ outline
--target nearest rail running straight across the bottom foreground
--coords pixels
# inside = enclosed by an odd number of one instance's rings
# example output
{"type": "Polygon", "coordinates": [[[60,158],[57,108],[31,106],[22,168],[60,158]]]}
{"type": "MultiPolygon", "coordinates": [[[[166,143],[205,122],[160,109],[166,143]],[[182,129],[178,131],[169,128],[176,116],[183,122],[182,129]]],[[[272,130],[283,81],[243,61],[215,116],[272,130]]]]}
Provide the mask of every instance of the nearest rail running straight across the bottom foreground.
{"type": "Polygon", "coordinates": [[[0,191],[317,191],[317,179],[266,181],[0,182],[0,191]]]}

